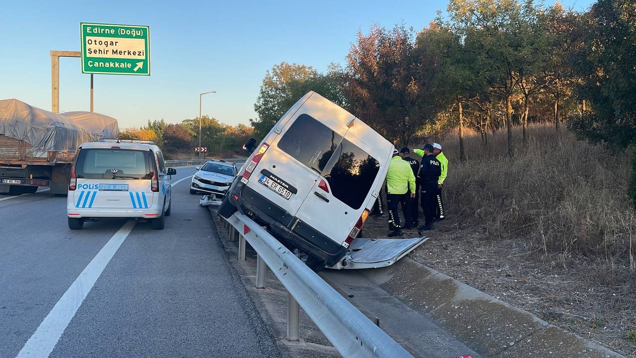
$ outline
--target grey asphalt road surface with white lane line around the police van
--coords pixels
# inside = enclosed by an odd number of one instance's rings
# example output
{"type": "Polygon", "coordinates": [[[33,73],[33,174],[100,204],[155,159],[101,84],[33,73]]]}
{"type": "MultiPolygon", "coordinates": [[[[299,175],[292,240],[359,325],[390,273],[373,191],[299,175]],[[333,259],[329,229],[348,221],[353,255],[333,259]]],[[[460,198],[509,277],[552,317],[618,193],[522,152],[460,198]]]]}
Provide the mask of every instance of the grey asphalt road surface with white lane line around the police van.
{"type": "Polygon", "coordinates": [[[189,183],[162,231],[71,231],[66,197],[0,197],[0,357],[279,357],[189,183]]]}

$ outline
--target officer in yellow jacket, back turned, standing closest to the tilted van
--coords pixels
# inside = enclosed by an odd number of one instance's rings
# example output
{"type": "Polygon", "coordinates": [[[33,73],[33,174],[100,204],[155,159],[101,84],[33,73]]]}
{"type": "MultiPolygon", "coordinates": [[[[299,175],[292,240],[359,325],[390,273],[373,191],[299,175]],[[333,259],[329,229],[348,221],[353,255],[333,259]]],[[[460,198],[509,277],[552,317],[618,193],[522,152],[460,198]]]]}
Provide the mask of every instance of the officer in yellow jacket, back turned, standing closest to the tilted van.
{"type": "Polygon", "coordinates": [[[406,224],[411,223],[411,197],[415,197],[415,175],[413,175],[413,170],[408,162],[399,156],[397,149],[394,149],[391,163],[389,163],[389,171],[387,171],[389,230],[392,230],[388,236],[403,235],[398,214],[399,204],[402,204],[406,216],[404,221],[406,224]]]}

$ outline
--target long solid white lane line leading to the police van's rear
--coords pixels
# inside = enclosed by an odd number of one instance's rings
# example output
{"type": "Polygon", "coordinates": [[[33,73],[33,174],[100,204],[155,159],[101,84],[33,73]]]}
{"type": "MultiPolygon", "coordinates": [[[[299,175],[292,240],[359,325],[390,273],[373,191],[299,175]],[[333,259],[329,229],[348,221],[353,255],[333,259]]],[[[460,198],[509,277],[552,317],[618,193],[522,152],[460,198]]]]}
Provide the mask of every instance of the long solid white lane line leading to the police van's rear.
{"type": "Polygon", "coordinates": [[[17,358],[48,357],[53,352],[53,348],[57,345],[57,341],[64,333],[71,319],[73,319],[79,306],[81,306],[86,295],[93,288],[95,281],[102,274],[108,262],[111,261],[115,252],[120,248],[121,243],[126,240],[135,223],[135,220],[130,220],[124,224],[108,240],[106,245],[99,250],[84,271],[71,284],[71,287],[64,292],[62,298],[57,301],[53,309],[46,315],[38,329],[22,347],[17,358]]]}

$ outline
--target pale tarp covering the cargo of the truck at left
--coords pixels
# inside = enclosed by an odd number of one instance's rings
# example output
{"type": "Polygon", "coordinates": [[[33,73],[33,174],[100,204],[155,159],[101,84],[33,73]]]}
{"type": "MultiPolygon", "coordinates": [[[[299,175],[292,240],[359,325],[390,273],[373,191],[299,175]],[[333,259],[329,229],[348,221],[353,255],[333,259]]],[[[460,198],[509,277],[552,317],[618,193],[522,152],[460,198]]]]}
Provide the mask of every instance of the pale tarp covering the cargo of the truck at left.
{"type": "Polygon", "coordinates": [[[99,113],[69,112],[59,115],[17,99],[0,100],[0,134],[23,140],[34,151],[76,150],[81,143],[117,138],[114,118],[99,113]]]}

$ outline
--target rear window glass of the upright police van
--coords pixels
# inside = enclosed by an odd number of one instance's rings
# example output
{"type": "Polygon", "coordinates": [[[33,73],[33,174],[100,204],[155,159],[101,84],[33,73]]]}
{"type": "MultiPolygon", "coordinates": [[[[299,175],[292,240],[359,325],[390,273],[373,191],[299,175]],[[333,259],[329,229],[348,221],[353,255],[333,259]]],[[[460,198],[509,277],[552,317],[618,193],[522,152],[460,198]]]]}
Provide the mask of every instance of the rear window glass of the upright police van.
{"type": "Polygon", "coordinates": [[[85,179],[151,179],[155,165],[149,150],[79,150],[75,175],[85,179]]]}

